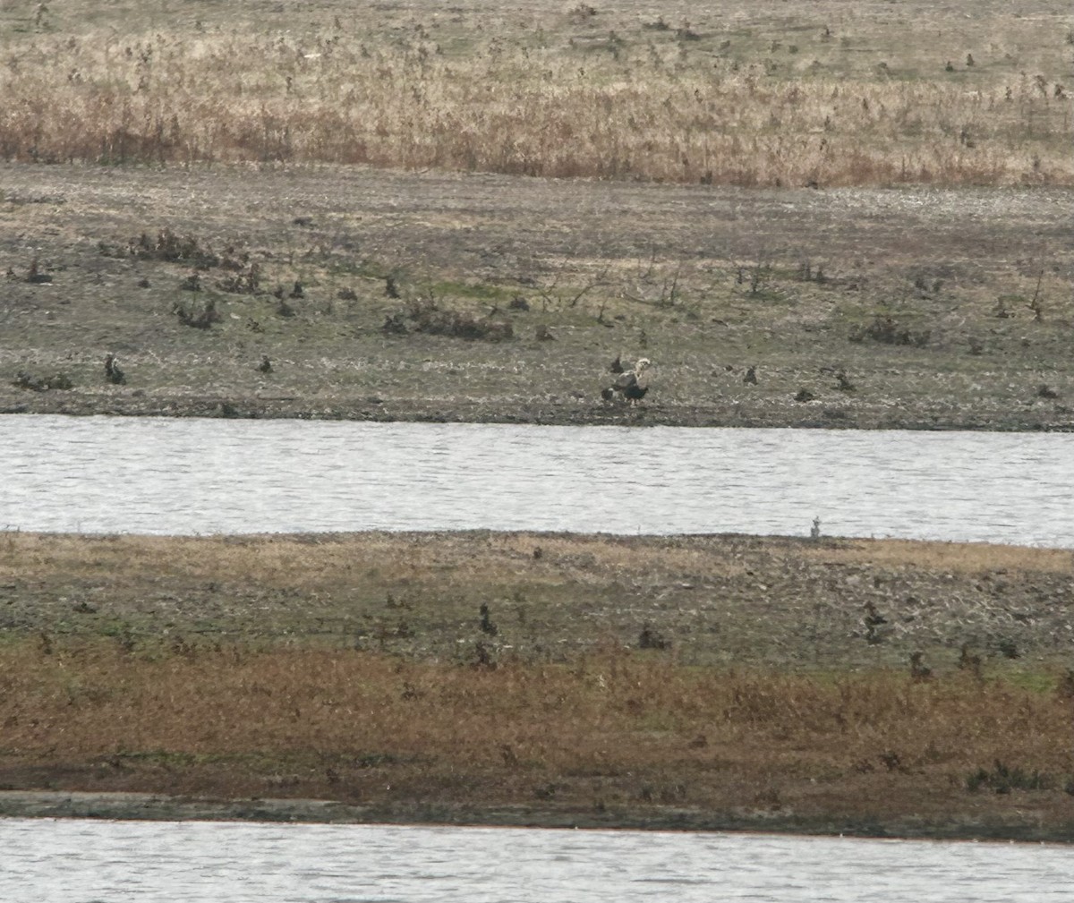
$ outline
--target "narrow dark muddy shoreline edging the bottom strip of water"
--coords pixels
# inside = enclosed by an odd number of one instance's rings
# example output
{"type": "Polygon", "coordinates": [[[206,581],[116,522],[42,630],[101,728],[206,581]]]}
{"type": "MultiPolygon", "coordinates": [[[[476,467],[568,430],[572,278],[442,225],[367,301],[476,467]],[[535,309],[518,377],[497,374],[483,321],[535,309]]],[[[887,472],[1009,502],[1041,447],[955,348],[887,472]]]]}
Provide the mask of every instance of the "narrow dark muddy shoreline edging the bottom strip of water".
{"type": "Polygon", "coordinates": [[[144,821],[249,821],[306,825],[409,825],[546,830],[682,831],[797,834],[874,840],[1074,843],[1074,825],[934,822],[926,819],[799,816],[794,813],[652,810],[574,812],[526,805],[353,804],[337,800],[222,800],[137,792],[0,790],[0,818],[86,818],[144,821]]]}

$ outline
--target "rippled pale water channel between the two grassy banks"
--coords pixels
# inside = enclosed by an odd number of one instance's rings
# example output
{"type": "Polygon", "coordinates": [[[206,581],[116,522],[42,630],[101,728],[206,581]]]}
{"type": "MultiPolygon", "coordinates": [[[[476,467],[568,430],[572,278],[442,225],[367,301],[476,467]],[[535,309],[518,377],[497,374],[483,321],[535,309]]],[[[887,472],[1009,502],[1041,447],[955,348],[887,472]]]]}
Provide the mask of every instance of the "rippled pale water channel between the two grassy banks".
{"type": "Polygon", "coordinates": [[[0,528],[1074,547],[1074,434],[0,417],[0,528]]]}

